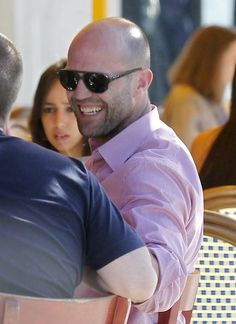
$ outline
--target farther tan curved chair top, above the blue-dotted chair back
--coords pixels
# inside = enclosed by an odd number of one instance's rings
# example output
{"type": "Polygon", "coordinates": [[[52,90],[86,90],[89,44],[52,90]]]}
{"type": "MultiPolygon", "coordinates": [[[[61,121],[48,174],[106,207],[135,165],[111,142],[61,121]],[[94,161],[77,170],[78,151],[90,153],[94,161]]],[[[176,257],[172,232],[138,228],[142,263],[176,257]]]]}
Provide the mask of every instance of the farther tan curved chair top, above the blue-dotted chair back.
{"type": "Polygon", "coordinates": [[[236,185],[205,189],[205,209],[234,214],[236,217],[236,185]]]}

